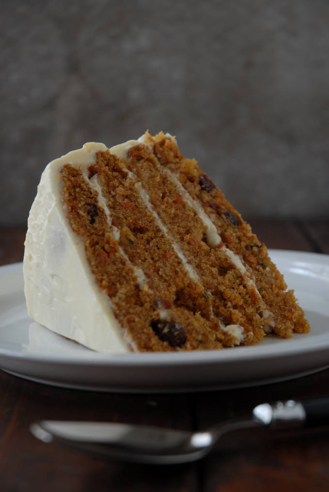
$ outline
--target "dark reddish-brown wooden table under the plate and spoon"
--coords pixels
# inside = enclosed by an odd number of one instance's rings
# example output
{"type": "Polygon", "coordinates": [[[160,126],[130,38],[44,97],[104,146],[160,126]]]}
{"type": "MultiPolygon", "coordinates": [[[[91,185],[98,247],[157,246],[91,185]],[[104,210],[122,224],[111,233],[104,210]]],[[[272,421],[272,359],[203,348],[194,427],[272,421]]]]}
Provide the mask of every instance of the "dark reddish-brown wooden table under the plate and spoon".
{"type": "MultiPolygon", "coordinates": [[[[269,247],[329,253],[329,220],[250,222],[269,247]]],[[[23,228],[0,229],[0,264],[22,260],[24,237],[23,228]]],[[[329,427],[240,431],[204,460],[170,466],[114,462],[43,444],[29,432],[35,420],[73,418],[203,429],[261,402],[324,395],[329,369],[266,386],[178,395],[61,389],[0,371],[0,491],[328,491],[329,427]]]]}

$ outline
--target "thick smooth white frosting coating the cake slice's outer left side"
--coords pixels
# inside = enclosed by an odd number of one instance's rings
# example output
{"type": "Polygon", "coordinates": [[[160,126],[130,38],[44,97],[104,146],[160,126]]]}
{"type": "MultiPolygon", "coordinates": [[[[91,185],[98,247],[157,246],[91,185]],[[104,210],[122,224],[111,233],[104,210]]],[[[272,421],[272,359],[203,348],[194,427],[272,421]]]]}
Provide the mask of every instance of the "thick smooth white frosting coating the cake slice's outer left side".
{"type": "Polygon", "coordinates": [[[29,315],[94,350],[128,352],[109,298],[98,288],[80,237],[66,218],[59,176],[64,164],[86,171],[103,144],[88,143],[48,164],[30,210],[23,263],[29,315]]]}

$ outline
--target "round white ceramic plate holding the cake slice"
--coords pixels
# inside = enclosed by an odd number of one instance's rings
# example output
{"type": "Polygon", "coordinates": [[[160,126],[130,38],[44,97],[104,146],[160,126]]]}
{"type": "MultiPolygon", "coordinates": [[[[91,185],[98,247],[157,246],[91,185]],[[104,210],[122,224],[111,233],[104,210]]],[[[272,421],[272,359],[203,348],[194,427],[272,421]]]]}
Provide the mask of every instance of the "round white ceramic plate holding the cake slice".
{"type": "Polygon", "coordinates": [[[329,256],[271,250],[295,289],[311,333],[259,345],[197,352],[100,354],[34,323],[22,264],[0,267],[0,367],[68,388],[175,392],[265,384],[329,367],[329,256]]]}

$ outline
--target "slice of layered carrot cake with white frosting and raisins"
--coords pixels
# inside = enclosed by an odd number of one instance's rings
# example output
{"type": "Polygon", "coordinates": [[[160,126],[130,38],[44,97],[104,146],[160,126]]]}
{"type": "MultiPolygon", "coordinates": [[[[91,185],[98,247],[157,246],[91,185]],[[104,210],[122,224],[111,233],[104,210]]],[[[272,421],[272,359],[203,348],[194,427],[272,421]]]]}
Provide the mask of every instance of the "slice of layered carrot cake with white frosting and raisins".
{"type": "Polygon", "coordinates": [[[50,162],[23,270],[30,316],[98,351],[218,349],[309,331],[266,246],[162,132],[50,162]]]}

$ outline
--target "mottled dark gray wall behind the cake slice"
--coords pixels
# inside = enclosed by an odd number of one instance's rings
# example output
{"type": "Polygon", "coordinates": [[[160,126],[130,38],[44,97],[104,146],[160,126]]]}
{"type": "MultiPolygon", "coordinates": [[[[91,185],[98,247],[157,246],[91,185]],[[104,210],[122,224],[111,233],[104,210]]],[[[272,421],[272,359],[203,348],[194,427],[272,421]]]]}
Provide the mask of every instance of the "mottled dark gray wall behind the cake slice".
{"type": "Polygon", "coordinates": [[[86,141],[169,131],[242,214],[329,215],[329,2],[2,1],[0,224],[86,141]]]}

